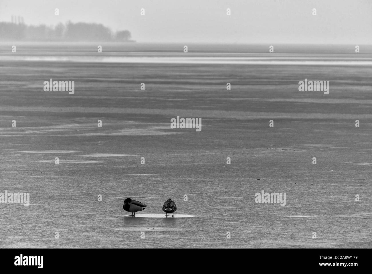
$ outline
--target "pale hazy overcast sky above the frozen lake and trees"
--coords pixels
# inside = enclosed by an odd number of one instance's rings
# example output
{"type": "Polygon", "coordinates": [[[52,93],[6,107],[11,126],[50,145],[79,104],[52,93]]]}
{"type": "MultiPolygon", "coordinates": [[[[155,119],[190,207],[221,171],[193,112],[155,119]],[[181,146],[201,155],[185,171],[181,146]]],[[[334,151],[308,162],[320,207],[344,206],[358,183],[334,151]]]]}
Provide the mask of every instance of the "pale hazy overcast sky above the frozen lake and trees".
{"type": "Polygon", "coordinates": [[[138,42],[372,44],[372,0],[0,0],[0,21],[12,15],[102,23],[138,42]]]}

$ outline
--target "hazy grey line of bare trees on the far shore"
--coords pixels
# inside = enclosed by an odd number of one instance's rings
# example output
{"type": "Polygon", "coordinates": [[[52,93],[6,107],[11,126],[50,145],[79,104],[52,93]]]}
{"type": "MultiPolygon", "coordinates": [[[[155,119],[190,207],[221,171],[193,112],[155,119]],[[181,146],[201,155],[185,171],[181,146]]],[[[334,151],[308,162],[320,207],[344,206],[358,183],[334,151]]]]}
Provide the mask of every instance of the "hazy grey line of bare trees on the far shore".
{"type": "Polygon", "coordinates": [[[25,25],[24,23],[0,22],[0,41],[131,41],[129,31],[113,33],[96,23],[59,23],[55,27],[25,25]]]}

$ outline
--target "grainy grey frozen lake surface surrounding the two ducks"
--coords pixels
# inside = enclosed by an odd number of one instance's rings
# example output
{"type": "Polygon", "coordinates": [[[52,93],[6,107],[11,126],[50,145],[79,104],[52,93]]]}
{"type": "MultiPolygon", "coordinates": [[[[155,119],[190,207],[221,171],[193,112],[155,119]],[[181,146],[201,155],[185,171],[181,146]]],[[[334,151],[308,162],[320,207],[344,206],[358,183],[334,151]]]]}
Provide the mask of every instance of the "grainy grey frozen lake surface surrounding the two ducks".
{"type": "Polygon", "coordinates": [[[243,50],[232,55],[244,64],[213,63],[234,48],[190,46],[187,57],[209,59],[180,64],[182,47],[158,48],[0,52],[0,192],[30,193],[30,206],[0,204],[1,248],[371,248],[370,65],[254,64],[274,57],[243,50]],[[44,92],[50,78],[75,81],[74,95],[44,92]],[[330,93],[299,92],[305,78],[330,81],[330,93]],[[202,130],[171,129],[177,115],[201,118],[202,130]],[[286,205],[255,203],[262,190],[286,192],[286,205]],[[163,214],[171,198],[176,216],[193,217],[125,217],[127,197],[147,205],[138,215],[163,214]]]}

